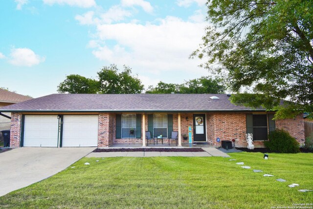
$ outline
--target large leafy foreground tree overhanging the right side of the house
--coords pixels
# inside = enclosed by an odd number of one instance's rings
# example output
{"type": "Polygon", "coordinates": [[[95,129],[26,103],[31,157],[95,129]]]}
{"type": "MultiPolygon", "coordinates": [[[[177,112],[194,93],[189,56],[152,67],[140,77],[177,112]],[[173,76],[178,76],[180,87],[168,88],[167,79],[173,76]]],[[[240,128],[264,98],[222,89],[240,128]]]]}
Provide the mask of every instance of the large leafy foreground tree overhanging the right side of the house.
{"type": "Polygon", "coordinates": [[[209,0],[207,9],[191,57],[208,59],[203,66],[241,93],[234,103],[278,110],[277,118],[313,112],[312,0],[209,0]],[[280,98],[290,102],[279,107],[280,98]]]}

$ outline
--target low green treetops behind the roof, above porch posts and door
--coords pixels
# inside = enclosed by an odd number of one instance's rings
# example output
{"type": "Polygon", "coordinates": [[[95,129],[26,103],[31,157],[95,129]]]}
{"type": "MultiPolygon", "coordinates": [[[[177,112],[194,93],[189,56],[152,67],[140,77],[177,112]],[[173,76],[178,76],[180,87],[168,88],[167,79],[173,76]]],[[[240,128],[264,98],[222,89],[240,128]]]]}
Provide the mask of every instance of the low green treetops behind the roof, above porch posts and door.
{"type": "Polygon", "coordinates": [[[224,93],[225,87],[221,79],[202,76],[185,81],[183,84],[164,83],[160,81],[156,87],[149,86],[146,93],[224,93]]]}

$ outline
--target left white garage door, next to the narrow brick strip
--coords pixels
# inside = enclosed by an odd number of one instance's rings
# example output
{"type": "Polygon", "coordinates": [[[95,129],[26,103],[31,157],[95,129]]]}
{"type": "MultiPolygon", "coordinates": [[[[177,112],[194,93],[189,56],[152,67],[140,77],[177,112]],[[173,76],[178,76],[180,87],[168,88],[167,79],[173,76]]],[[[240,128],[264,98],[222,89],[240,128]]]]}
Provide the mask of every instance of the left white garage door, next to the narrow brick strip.
{"type": "Polygon", "coordinates": [[[57,147],[58,116],[25,116],[23,146],[57,147]]]}

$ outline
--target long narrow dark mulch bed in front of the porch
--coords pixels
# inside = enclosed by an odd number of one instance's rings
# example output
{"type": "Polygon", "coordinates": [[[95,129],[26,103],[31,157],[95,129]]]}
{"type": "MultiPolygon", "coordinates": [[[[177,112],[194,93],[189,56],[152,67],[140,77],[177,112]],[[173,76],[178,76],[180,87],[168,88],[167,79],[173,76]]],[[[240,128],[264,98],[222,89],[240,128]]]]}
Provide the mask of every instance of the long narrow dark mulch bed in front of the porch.
{"type": "Polygon", "coordinates": [[[95,149],[93,152],[205,152],[201,148],[110,148],[95,149]]]}

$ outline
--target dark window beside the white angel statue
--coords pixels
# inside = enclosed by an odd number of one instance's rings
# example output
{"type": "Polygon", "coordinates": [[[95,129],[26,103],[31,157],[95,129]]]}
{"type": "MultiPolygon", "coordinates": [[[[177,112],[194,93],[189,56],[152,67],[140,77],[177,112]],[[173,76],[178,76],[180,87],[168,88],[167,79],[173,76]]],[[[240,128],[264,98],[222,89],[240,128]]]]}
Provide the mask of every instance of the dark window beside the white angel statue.
{"type": "Polygon", "coordinates": [[[253,140],[268,139],[267,115],[253,115],[253,140]]]}

